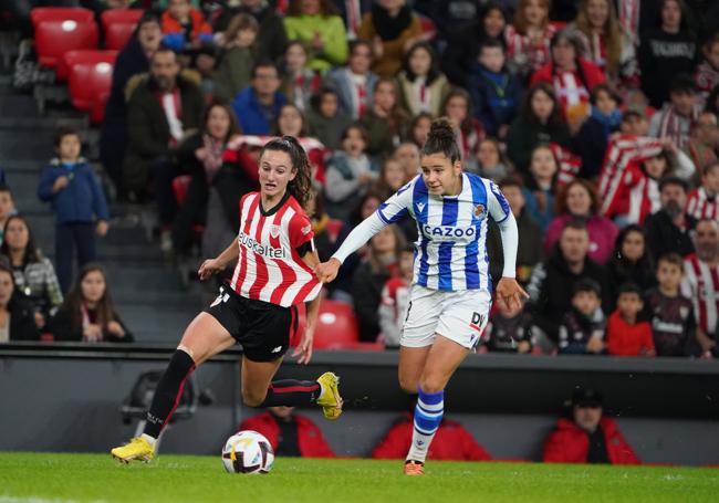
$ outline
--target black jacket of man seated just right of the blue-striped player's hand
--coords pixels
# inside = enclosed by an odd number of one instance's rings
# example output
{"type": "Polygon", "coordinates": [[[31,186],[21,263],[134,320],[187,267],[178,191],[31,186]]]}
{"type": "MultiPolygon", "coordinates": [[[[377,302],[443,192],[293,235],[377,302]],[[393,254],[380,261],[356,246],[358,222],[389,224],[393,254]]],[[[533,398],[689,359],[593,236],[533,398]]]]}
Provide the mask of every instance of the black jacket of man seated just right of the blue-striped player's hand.
{"type": "Polygon", "coordinates": [[[528,286],[534,324],[556,342],[560,321],[572,308],[572,289],[577,280],[588,277],[602,287],[602,310],[608,311],[606,271],[591,259],[584,260],[581,273],[570,271],[559,243],[552,256],[538,265],[528,286]]]}

